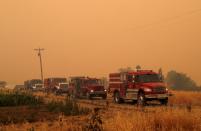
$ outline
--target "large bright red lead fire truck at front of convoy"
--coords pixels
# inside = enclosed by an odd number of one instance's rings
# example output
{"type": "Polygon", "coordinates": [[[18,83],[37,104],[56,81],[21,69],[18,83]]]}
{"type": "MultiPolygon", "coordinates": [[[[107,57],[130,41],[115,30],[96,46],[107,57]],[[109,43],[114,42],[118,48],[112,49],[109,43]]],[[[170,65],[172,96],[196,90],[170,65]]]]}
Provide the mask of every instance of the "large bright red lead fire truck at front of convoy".
{"type": "Polygon", "coordinates": [[[109,74],[109,92],[114,101],[136,101],[145,105],[147,101],[158,100],[161,104],[168,103],[168,89],[160,75],[151,70],[109,74]]]}

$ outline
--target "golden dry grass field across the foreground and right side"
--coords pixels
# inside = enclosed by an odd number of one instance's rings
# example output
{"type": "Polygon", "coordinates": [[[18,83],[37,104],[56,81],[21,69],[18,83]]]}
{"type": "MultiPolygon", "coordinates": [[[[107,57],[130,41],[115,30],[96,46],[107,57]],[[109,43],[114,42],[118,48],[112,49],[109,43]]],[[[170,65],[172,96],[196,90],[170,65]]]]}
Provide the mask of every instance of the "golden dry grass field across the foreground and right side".
{"type": "MultiPolygon", "coordinates": [[[[169,105],[147,106],[135,110],[101,109],[98,120],[92,122],[94,113],[86,115],[65,116],[56,113],[51,119],[41,119],[37,122],[22,122],[0,126],[0,131],[80,131],[102,129],[105,131],[200,131],[201,130],[201,93],[198,92],[173,92],[169,105]],[[97,124],[98,123],[98,124],[97,124]],[[89,125],[92,128],[88,128],[89,125]],[[95,128],[98,126],[97,128],[95,128]]],[[[37,94],[41,97],[62,100],[62,96],[37,94]]],[[[90,106],[90,105],[87,105],[90,106]]],[[[122,107],[124,105],[118,105],[122,107]]],[[[128,104],[128,106],[136,106],[128,104]]],[[[0,107],[0,109],[7,107],[0,107]]],[[[16,107],[12,107],[16,108],[16,107]]],[[[17,107],[20,108],[20,107],[17,107]]],[[[90,107],[89,107],[90,108],[90,107]]],[[[36,114],[37,115],[37,114],[36,114]]],[[[38,113],[40,115],[40,113],[38,113]]],[[[48,113],[51,115],[51,113],[48,113]]],[[[38,116],[40,117],[40,116],[38,116]]]]}

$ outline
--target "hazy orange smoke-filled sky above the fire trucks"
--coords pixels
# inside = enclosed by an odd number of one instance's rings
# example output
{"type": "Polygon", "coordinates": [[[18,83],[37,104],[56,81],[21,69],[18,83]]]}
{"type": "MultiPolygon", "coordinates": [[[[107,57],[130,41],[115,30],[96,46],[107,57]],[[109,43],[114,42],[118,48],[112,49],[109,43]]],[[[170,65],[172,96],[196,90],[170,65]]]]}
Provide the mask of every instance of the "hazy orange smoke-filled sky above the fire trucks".
{"type": "Polygon", "coordinates": [[[201,84],[200,0],[1,0],[0,80],[108,76],[141,65],[201,84]]]}

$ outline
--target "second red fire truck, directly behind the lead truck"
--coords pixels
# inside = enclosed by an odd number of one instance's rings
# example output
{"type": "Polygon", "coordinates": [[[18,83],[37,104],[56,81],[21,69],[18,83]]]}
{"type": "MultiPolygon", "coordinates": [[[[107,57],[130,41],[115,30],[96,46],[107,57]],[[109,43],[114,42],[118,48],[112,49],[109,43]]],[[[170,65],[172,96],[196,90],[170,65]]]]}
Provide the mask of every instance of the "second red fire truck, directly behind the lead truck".
{"type": "Polygon", "coordinates": [[[89,77],[71,77],[69,82],[69,94],[75,98],[93,97],[107,98],[107,90],[101,85],[99,79],[89,77]]]}

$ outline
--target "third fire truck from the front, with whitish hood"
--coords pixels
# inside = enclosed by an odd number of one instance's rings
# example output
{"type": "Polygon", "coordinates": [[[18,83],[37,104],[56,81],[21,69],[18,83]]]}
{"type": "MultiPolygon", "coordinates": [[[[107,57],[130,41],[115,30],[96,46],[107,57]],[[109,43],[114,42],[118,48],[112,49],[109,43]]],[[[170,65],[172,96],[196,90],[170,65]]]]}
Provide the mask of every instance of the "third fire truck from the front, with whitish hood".
{"type": "Polygon", "coordinates": [[[46,78],[44,88],[47,92],[56,94],[68,93],[68,83],[66,78],[46,78]]]}

